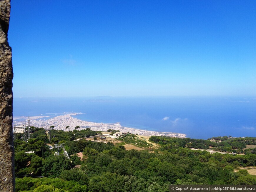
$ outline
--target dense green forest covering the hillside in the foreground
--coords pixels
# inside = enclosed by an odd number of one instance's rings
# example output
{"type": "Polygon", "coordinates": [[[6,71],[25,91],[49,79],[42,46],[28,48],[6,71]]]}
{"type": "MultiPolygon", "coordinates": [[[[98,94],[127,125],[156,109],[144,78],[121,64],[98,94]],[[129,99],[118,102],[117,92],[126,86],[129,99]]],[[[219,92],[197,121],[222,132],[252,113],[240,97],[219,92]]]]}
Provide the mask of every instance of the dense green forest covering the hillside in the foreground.
{"type": "MultiPolygon", "coordinates": [[[[234,142],[252,145],[255,138],[234,138],[230,141],[226,139],[215,142],[152,136],[150,140],[161,146],[154,152],[125,150],[124,146],[110,142],[78,139],[97,133],[100,132],[89,129],[51,130],[51,144],[65,143],[70,159],[61,155],[54,156],[57,149],[50,149],[49,145],[46,145],[49,138],[43,128],[34,128],[27,142],[22,141],[21,137],[16,138],[16,191],[162,192],[169,191],[170,184],[256,184],[256,177],[249,175],[246,169],[234,172],[239,166],[255,166],[255,150],[247,155],[233,155],[210,154],[207,151],[188,148],[218,148],[220,143],[227,143],[235,148],[234,142]],[[26,151],[35,152],[25,153],[26,151]],[[84,155],[82,160],[76,155],[79,152],[84,155]],[[74,168],[76,165],[81,166],[74,168]],[[36,176],[43,178],[35,178],[36,176]]],[[[131,136],[127,134],[122,141],[130,141],[131,136]]],[[[136,136],[134,138],[133,135],[132,138],[136,139],[136,136]]],[[[240,144],[236,145],[236,149],[240,144]]]]}

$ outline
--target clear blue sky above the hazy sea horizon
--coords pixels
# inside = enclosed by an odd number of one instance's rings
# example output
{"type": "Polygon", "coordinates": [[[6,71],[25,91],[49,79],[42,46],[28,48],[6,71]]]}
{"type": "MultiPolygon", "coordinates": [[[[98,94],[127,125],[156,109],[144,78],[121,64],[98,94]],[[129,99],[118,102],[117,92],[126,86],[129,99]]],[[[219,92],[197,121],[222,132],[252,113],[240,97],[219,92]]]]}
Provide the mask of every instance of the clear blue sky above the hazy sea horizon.
{"type": "Polygon", "coordinates": [[[256,1],[11,0],[14,97],[256,96],[256,1]]]}

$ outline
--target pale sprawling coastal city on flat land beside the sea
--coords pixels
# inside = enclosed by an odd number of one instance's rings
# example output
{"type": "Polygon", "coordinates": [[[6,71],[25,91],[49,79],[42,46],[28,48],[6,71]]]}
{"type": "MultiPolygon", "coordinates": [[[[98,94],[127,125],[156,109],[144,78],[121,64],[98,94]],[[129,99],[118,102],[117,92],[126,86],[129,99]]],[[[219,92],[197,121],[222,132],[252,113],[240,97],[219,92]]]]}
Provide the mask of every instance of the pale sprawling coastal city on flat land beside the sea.
{"type": "MultiPolygon", "coordinates": [[[[56,114],[56,113],[54,113],[56,114]]],[[[76,126],[80,126],[78,130],[90,128],[93,131],[103,131],[106,132],[108,129],[119,130],[120,132],[129,132],[138,134],[141,136],[170,136],[178,138],[186,138],[186,134],[183,133],[173,133],[173,132],[159,132],[159,131],[148,131],[136,128],[123,127],[120,123],[94,123],[89,121],[83,121],[72,116],[76,116],[81,113],[65,113],[64,115],[56,116],[49,119],[44,119],[49,116],[32,116],[30,117],[30,126],[49,128],[54,125],[54,129],[63,131],[73,131],[76,126]],[[66,126],[70,126],[66,129],[66,126]]],[[[23,118],[28,120],[28,118],[23,118]]],[[[18,121],[19,119],[14,117],[13,125],[24,124],[24,121],[18,121]]]]}

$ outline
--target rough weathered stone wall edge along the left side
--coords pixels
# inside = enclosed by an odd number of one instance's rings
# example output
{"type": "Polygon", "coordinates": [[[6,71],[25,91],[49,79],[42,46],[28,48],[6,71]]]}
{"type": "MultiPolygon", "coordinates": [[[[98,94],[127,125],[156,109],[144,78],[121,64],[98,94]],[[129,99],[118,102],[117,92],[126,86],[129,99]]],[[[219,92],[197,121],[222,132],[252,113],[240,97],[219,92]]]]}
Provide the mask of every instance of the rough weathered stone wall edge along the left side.
{"type": "Polygon", "coordinates": [[[12,62],[7,33],[10,0],[0,0],[0,191],[14,191],[14,146],[12,133],[12,62]]]}

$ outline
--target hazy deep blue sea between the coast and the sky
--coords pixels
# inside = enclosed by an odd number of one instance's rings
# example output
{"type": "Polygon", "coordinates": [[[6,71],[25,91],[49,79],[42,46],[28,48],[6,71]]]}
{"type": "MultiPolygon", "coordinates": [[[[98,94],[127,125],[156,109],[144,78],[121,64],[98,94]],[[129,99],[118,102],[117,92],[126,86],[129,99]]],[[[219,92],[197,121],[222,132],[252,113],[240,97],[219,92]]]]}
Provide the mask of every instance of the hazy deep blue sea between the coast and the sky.
{"type": "Polygon", "coordinates": [[[190,138],[256,137],[253,97],[14,98],[14,116],[53,117],[64,112],[85,113],[76,116],[85,121],[119,122],[125,127],[184,133],[190,138]]]}

